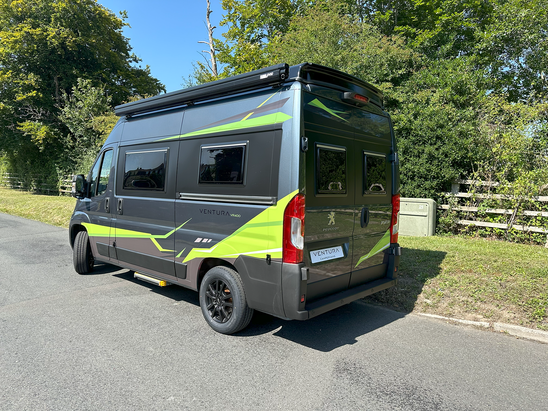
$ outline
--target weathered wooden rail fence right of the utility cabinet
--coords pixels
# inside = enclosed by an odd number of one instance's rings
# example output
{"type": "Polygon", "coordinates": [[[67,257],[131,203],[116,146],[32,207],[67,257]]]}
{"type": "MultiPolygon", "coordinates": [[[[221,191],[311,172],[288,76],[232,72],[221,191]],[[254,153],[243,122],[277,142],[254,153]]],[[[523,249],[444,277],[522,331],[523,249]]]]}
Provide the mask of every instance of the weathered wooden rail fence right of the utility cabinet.
{"type": "MultiPolygon", "coordinates": [[[[478,180],[453,180],[451,184],[451,191],[445,192],[444,195],[446,196],[453,196],[457,198],[483,198],[483,199],[513,199],[515,196],[511,195],[504,195],[504,194],[493,194],[493,193],[470,193],[470,192],[461,192],[460,191],[460,185],[466,184],[466,185],[473,185],[473,186],[487,186],[487,187],[499,187],[500,182],[488,182],[488,181],[478,181],[478,180]]],[[[546,188],[546,187],[543,187],[546,188]]],[[[538,196],[534,198],[528,198],[529,201],[538,201],[538,202],[548,202],[548,196],[538,196]]],[[[449,204],[440,204],[438,205],[438,209],[444,209],[447,210],[451,206],[449,204]]],[[[487,214],[507,214],[512,215],[514,219],[511,219],[511,221],[515,220],[515,216],[517,214],[517,210],[515,209],[504,209],[504,208],[487,208],[487,209],[481,209],[479,207],[470,207],[470,206],[463,206],[458,204],[457,206],[453,207],[453,210],[455,211],[464,211],[469,213],[487,213],[487,214]]],[[[548,217],[548,212],[546,211],[532,211],[532,210],[523,210],[520,215],[523,216],[541,216],[541,217],[548,217]]],[[[531,232],[540,232],[540,233],[548,233],[548,229],[545,227],[535,227],[535,226],[529,226],[529,225],[520,225],[520,224],[512,224],[510,221],[510,224],[504,224],[500,222],[490,222],[490,221],[478,221],[478,220],[456,220],[457,224],[460,225],[476,225],[479,227],[493,227],[497,229],[503,229],[503,230],[509,230],[509,229],[515,229],[515,230],[521,230],[521,231],[531,231],[531,232]]],[[[545,247],[548,247],[548,236],[546,236],[546,244],[545,247]]]]}

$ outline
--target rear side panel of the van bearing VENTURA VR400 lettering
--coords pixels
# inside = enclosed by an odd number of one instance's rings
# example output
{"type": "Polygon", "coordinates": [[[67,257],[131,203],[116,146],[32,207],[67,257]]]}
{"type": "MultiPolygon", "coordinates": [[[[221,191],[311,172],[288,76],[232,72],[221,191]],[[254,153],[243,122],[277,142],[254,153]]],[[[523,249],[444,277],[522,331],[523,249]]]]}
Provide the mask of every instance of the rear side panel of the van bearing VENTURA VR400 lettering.
{"type": "Polygon", "coordinates": [[[282,216],[292,198],[289,187],[278,183],[279,158],[286,153],[286,134],[291,137],[294,92],[282,94],[273,89],[186,111],[175,204],[175,224],[184,224],[175,233],[175,261],[187,265],[179,284],[198,289],[202,267],[211,259],[226,261],[240,273],[249,306],[279,316],[284,315],[282,216]],[[210,167],[207,157],[233,146],[245,147],[243,181],[202,180],[210,167]]]}

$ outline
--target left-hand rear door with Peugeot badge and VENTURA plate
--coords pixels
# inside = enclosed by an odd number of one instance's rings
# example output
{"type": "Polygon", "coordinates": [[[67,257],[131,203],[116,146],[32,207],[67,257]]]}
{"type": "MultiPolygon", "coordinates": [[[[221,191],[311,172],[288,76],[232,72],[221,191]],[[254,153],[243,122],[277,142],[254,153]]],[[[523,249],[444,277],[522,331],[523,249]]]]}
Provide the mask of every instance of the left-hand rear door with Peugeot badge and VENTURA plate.
{"type": "Polygon", "coordinates": [[[354,143],[352,108],[304,94],[306,301],[345,290],[352,269],[354,143]]]}

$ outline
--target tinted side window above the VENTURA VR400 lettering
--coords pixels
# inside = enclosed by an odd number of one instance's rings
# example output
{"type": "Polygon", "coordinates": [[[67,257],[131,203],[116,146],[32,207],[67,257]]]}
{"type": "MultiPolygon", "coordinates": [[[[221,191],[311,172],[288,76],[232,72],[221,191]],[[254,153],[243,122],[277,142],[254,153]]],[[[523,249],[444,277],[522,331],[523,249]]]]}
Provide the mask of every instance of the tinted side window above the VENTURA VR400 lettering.
{"type": "Polygon", "coordinates": [[[202,147],[201,184],[243,184],[246,146],[202,147]]]}

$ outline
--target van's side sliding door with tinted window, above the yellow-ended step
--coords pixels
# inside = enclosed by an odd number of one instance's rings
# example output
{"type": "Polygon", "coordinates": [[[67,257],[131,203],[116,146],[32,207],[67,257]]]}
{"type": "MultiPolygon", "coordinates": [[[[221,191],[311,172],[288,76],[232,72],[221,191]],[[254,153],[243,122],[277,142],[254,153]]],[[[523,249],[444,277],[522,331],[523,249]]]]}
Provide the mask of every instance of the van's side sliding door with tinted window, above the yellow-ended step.
{"type": "Polygon", "coordinates": [[[136,271],[175,278],[175,178],[179,141],[121,146],[116,254],[136,271]]]}

